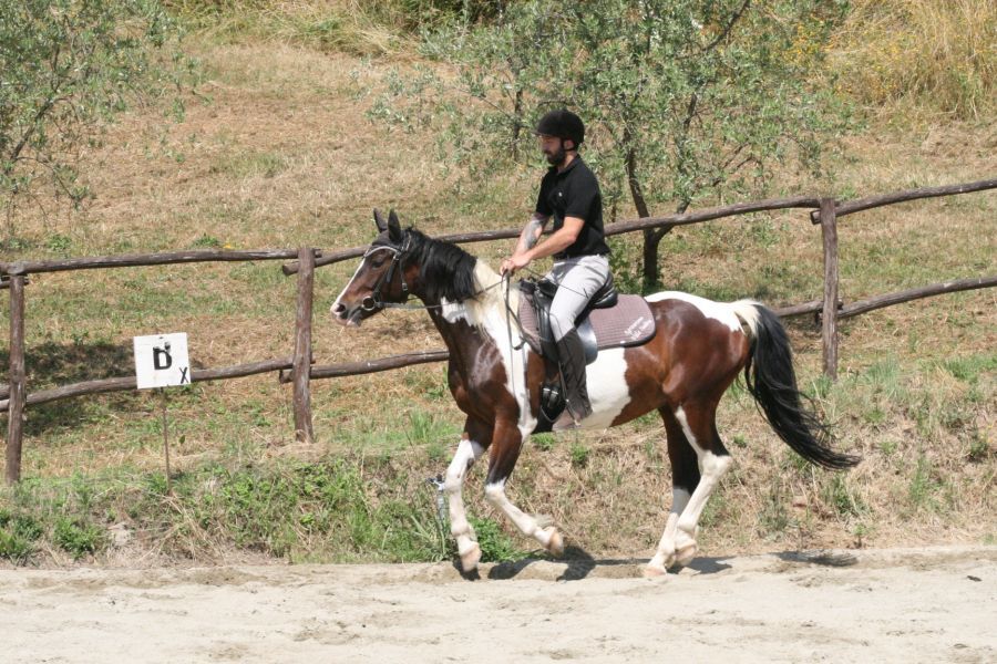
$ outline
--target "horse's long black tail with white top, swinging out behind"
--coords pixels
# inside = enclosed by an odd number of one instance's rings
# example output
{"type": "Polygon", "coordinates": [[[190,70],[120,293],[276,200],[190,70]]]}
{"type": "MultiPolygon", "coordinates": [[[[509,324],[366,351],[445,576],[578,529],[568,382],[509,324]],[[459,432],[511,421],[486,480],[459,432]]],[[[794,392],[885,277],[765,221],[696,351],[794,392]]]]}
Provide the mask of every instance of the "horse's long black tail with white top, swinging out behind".
{"type": "Polygon", "coordinates": [[[818,466],[844,469],[857,464],[859,457],[831,448],[828,425],[796,387],[792,349],[779,317],[751,300],[739,300],[731,307],[751,338],[744,382],[779,437],[818,466]]]}

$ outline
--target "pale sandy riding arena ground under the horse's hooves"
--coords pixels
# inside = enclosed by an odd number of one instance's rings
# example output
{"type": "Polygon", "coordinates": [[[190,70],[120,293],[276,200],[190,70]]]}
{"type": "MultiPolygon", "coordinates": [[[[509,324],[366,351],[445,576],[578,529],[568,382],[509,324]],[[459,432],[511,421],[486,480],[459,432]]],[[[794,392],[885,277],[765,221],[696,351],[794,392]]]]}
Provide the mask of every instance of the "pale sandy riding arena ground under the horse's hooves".
{"type": "Polygon", "coordinates": [[[997,662],[997,547],[847,557],[0,570],[0,660],[997,662]]]}

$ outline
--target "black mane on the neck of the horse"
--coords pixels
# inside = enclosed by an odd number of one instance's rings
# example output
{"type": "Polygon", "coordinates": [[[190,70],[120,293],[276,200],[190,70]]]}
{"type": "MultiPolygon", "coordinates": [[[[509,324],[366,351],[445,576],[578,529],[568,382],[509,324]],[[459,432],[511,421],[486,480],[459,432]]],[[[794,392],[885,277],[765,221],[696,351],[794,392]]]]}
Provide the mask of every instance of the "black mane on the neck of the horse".
{"type": "MultiPolygon", "coordinates": [[[[420,266],[420,281],[430,302],[446,298],[461,302],[477,294],[474,264],[477,259],[450,242],[434,240],[414,228],[407,228],[411,260],[420,266]]],[[[408,262],[408,261],[407,261],[408,262]]]]}

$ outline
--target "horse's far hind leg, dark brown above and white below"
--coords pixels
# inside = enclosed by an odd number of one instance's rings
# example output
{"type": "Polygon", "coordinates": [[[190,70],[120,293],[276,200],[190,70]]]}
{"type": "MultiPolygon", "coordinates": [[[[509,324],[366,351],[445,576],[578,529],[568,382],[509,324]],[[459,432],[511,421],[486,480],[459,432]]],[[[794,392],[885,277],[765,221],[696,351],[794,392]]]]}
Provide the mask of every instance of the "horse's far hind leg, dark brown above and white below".
{"type": "MultiPolygon", "coordinates": [[[[645,570],[647,577],[665,574],[668,568],[676,561],[676,536],[678,521],[689,497],[699,485],[699,459],[696,450],[686,439],[682,425],[679,424],[675,413],[666,406],[659,408],[661,419],[665,421],[665,432],[668,435],[668,459],[671,461],[671,510],[668,512],[668,521],[665,532],[658,542],[658,549],[645,570]]],[[[682,538],[683,549],[688,548],[688,538],[682,538]]],[[[693,542],[695,544],[695,542],[693,542]]]]}

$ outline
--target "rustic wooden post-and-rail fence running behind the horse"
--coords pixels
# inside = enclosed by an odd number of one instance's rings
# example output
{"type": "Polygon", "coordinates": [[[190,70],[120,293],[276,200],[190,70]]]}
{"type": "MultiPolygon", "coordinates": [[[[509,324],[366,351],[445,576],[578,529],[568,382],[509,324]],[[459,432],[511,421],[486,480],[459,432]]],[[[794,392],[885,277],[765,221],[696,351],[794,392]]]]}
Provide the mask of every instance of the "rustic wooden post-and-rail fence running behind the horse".
{"type": "MultiPolygon", "coordinates": [[[[831,380],[834,380],[837,374],[837,322],[841,319],[941,293],[997,286],[997,276],[973,277],[882,294],[867,300],[844,304],[839,298],[837,219],[857,211],[908,200],[968,194],[994,188],[997,188],[997,179],[945,187],[911,189],[843,203],[835,201],[833,198],[816,197],[759,200],[709,208],[682,215],[646,217],[643,219],[620,221],[607,226],[606,234],[614,236],[649,228],[667,227],[670,229],[676,226],[701,224],[724,217],[768,210],[789,208],[811,210],[811,221],[821,227],[823,242],[823,298],[821,300],[775,309],[774,311],[778,315],[783,318],[803,314],[814,314],[819,317],[822,329],[823,371],[825,375],[831,380]]],[[[512,239],[518,237],[520,231],[521,229],[516,228],[497,231],[456,234],[440,236],[439,239],[455,243],[484,242],[498,239],[512,239]]],[[[376,360],[361,360],[359,362],[345,364],[312,365],[311,325],[315,270],[321,266],[358,258],[362,256],[364,250],[366,248],[362,247],[331,252],[323,252],[314,248],[261,251],[206,250],[73,258],[51,261],[0,262],[0,289],[10,291],[10,382],[6,388],[0,387],[0,412],[8,413],[6,459],[7,481],[16,483],[20,479],[23,425],[28,406],[81,396],[84,394],[121,392],[136,388],[135,376],[122,376],[116,378],[84,381],[51,390],[42,390],[32,394],[28,393],[24,369],[24,289],[29,283],[28,278],[30,274],[69,270],[167,266],[192,262],[292,260],[292,262],[282,266],[285,274],[298,276],[297,308],[295,314],[295,347],[292,352],[284,357],[234,366],[195,369],[192,371],[192,382],[224,381],[254,374],[278,372],[278,378],[281,383],[294,384],[292,401],[295,412],[295,435],[299,439],[310,440],[315,435],[311,418],[310,381],[376,373],[415,364],[442,362],[449,359],[449,353],[446,351],[425,351],[376,360]]]]}

